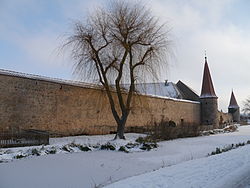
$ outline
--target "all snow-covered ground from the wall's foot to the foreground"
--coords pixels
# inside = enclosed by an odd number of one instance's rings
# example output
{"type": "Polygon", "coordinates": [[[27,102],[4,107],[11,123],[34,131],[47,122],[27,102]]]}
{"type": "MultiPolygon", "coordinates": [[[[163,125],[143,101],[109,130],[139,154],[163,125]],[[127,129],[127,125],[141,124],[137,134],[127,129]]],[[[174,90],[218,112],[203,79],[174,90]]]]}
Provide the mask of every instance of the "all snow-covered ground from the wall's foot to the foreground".
{"type": "MultiPolygon", "coordinates": [[[[126,141],[115,144],[134,142],[138,136],[127,134],[126,141]]],[[[71,142],[94,145],[113,137],[54,138],[50,143],[57,148],[71,142]]],[[[0,188],[246,187],[250,181],[250,145],[207,156],[216,147],[248,140],[250,126],[242,126],[233,133],[160,142],[151,151],[59,152],[15,159],[0,163],[0,188]]]]}

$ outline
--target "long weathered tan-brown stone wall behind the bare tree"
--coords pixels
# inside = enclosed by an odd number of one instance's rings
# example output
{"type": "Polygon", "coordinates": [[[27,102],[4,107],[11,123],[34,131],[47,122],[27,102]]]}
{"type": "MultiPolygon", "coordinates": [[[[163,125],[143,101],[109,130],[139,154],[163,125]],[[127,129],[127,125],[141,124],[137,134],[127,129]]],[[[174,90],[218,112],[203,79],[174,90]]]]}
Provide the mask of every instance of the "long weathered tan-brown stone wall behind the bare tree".
{"type": "MultiPolygon", "coordinates": [[[[160,121],[200,124],[200,103],[135,96],[127,131],[160,121]]],[[[97,88],[0,74],[0,131],[47,130],[59,135],[116,130],[105,92],[97,88]]]]}

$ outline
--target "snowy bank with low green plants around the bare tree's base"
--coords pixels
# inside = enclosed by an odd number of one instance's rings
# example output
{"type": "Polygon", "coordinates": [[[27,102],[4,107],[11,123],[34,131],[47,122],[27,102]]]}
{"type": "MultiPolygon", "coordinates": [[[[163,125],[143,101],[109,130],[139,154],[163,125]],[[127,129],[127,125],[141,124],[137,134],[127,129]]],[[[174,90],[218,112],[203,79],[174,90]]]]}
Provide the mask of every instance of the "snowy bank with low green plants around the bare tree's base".
{"type": "MultiPolygon", "coordinates": [[[[62,154],[62,153],[77,153],[83,152],[83,150],[97,151],[100,150],[102,145],[109,144],[114,146],[116,150],[119,150],[121,146],[126,144],[136,145],[133,148],[127,149],[129,152],[142,151],[139,143],[135,140],[143,134],[129,133],[126,135],[126,140],[113,140],[114,135],[104,136],[75,136],[75,137],[63,137],[63,138],[51,138],[50,145],[42,146],[30,146],[30,147],[16,147],[16,148],[3,148],[0,149],[0,163],[10,162],[20,158],[30,158],[35,156],[43,156],[50,154],[62,154]]],[[[1,187],[0,187],[1,188],[1,187]]]]}

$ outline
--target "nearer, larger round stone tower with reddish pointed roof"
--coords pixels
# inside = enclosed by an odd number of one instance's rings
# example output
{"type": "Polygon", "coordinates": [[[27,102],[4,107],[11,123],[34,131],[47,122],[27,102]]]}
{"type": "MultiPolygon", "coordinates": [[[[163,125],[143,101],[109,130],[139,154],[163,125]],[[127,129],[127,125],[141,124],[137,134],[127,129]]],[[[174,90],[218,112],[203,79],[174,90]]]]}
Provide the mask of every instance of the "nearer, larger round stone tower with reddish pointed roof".
{"type": "Polygon", "coordinates": [[[201,103],[201,124],[218,126],[218,97],[215,94],[212,78],[205,57],[202,89],[200,95],[201,103]]]}

